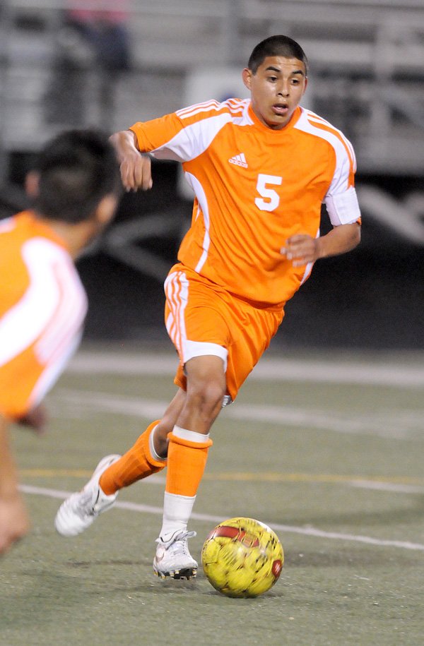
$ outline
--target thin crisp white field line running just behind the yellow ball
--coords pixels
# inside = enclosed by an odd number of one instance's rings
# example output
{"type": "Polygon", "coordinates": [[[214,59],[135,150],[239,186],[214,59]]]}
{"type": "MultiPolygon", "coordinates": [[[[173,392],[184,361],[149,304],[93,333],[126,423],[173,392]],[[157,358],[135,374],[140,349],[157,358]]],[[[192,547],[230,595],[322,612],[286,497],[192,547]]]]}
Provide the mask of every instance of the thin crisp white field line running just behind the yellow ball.
{"type": "MultiPolygon", "coordinates": [[[[33,494],[35,496],[48,496],[49,498],[59,498],[63,500],[67,498],[71,491],[58,491],[57,489],[44,489],[38,486],[20,485],[20,491],[24,494],[33,494]]],[[[163,509],[161,507],[152,507],[148,505],[139,505],[138,503],[118,502],[115,507],[126,509],[129,511],[136,511],[139,513],[149,513],[155,515],[162,515],[163,509]]],[[[192,514],[194,520],[202,520],[205,522],[218,523],[222,522],[222,516],[213,516],[208,514],[192,514]]],[[[312,536],[316,538],[334,539],[338,541],[351,541],[356,543],[364,543],[367,545],[375,545],[377,547],[399,547],[400,549],[420,550],[424,551],[424,544],[411,543],[409,541],[390,541],[384,539],[376,539],[370,536],[361,536],[360,534],[341,534],[338,532],[324,532],[317,530],[314,527],[295,527],[293,525],[278,525],[277,523],[266,523],[276,532],[285,532],[287,534],[303,534],[304,536],[312,536]]]]}

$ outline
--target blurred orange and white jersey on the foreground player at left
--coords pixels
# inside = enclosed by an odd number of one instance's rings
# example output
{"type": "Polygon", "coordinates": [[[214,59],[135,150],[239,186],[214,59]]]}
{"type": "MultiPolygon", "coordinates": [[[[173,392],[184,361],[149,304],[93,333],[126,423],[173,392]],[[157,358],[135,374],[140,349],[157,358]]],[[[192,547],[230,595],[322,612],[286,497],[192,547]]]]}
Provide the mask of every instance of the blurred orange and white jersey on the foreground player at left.
{"type": "Polygon", "coordinates": [[[87,299],[64,242],[26,211],[0,222],[0,412],[37,405],[78,346],[87,299]]]}

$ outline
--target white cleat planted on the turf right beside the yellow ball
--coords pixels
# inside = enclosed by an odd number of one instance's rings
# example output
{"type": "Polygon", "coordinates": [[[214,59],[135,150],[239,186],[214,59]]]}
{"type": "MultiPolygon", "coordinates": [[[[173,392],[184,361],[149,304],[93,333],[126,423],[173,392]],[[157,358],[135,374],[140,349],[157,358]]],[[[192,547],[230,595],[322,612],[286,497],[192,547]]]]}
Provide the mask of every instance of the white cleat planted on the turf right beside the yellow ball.
{"type": "Polygon", "coordinates": [[[196,532],[177,530],[167,541],[161,537],[156,539],[158,547],[153,561],[156,576],[160,579],[168,576],[172,579],[196,578],[198,566],[187,546],[187,539],[193,536],[196,536],[196,532]]]}

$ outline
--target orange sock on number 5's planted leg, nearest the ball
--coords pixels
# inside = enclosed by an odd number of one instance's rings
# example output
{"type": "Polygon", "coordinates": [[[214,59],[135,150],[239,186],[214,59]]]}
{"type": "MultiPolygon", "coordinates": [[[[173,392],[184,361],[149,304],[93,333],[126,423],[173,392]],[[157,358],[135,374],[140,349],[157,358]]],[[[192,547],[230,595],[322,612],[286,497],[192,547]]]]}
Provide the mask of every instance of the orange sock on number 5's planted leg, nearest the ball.
{"type": "Polygon", "coordinates": [[[212,440],[192,442],[174,433],[168,433],[168,438],[165,491],[179,496],[196,496],[212,440]]]}

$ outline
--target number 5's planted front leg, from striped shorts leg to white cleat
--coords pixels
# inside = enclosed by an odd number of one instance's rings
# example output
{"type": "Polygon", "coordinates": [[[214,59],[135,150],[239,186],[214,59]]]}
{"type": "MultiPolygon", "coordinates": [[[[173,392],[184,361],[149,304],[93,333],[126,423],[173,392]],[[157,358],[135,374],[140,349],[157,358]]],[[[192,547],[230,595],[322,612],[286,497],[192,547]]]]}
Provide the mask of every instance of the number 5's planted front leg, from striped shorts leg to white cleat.
{"type": "MultiPolygon", "coordinates": [[[[181,266],[181,265],[180,265],[181,266]]],[[[197,563],[189,554],[187,522],[204,473],[208,433],[227,393],[225,369],[230,335],[219,288],[184,270],[165,282],[166,323],[179,354],[175,383],[187,396],[169,436],[163,524],[153,569],[161,578],[191,578],[197,563]]]]}

